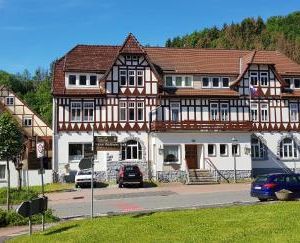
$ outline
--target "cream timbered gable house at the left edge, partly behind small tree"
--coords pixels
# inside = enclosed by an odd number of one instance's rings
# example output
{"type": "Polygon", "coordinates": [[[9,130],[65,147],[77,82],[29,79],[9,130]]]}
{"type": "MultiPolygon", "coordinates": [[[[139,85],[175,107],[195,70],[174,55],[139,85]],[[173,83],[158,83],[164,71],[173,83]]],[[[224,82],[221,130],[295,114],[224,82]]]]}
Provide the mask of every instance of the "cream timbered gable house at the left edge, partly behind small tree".
{"type": "MultiPolygon", "coordinates": [[[[9,112],[19,123],[25,138],[26,152],[23,156],[23,167],[21,171],[22,185],[40,185],[41,176],[38,174],[40,168],[39,160],[36,159],[35,142],[44,141],[46,153],[44,158],[45,183],[53,182],[52,173],[52,129],[35,114],[28,105],[22,101],[14,92],[0,86],[0,113],[9,112]]],[[[11,186],[18,185],[18,172],[13,162],[10,162],[11,186]]],[[[0,187],[7,186],[6,161],[0,161],[0,187]]]]}

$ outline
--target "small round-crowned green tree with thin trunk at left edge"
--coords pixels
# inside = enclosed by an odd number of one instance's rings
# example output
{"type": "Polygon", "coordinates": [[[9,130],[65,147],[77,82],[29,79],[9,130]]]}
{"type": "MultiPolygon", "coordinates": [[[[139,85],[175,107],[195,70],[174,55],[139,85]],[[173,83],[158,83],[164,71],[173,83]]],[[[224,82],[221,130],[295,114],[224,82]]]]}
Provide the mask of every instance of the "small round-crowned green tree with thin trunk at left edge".
{"type": "Polygon", "coordinates": [[[4,112],[0,115],[0,159],[6,161],[7,169],[7,210],[10,209],[10,168],[9,161],[20,155],[23,148],[23,134],[13,117],[4,112]]]}

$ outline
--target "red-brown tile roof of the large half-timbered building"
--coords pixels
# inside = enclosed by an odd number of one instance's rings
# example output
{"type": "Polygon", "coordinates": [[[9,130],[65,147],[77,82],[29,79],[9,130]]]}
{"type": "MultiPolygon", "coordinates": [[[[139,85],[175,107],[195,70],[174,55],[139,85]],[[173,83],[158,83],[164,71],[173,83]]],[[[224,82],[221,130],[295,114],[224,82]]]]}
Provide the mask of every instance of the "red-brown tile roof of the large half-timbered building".
{"type": "MultiPolygon", "coordinates": [[[[256,63],[275,65],[280,75],[300,75],[300,65],[278,51],[143,47],[129,34],[122,46],[74,47],[56,62],[53,94],[65,94],[64,72],[107,74],[120,53],[145,55],[158,73],[223,74],[238,77],[248,64],[256,63]]],[[[98,92],[95,94],[99,94],[98,92]]]]}

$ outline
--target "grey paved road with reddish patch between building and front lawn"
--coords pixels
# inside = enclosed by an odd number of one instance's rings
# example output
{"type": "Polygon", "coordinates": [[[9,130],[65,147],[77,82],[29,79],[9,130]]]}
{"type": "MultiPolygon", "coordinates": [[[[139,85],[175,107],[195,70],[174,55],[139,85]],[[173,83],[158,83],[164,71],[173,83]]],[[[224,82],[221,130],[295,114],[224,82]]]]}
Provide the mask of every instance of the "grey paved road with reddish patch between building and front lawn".
{"type": "MultiPolygon", "coordinates": [[[[110,192],[96,189],[94,196],[95,215],[124,213],[143,210],[163,210],[170,208],[205,207],[229,203],[256,202],[249,196],[248,185],[240,188],[215,185],[210,192],[207,188],[169,187],[164,189],[115,189],[110,192]],[[178,189],[179,188],[179,189],[178,189]],[[148,190],[148,191],[147,191],[148,190]]],[[[89,190],[77,192],[73,200],[50,198],[49,207],[59,217],[73,217],[90,213],[89,190]],[[77,198],[77,199],[74,199],[77,198]]]]}

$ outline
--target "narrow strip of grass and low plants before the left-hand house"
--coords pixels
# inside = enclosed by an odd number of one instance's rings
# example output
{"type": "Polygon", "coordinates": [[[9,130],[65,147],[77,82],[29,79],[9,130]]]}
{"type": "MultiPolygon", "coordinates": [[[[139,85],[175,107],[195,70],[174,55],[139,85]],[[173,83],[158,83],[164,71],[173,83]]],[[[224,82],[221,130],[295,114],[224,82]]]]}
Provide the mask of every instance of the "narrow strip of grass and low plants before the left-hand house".
{"type": "MultiPolygon", "coordinates": [[[[65,190],[74,189],[72,183],[52,183],[45,185],[45,193],[61,192],[65,190]]],[[[23,187],[21,191],[17,188],[11,188],[11,203],[18,204],[22,201],[26,201],[32,198],[36,198],[42,189],[41,186],[31,186],[29,190],[27,187],[23,187]]],[[[0,205],[6,204],[6,188],[0,188],[0,205]]]]}

